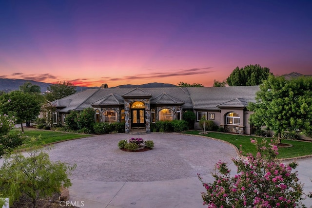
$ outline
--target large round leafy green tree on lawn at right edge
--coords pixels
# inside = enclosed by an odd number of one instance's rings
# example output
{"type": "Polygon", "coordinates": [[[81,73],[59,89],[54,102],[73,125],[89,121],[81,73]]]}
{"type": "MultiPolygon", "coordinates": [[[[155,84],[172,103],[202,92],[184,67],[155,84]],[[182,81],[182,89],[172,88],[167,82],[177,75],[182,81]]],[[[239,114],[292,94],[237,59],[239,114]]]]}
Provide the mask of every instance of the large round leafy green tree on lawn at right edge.
{"type": "Polygon", "coordinates": [[[269,76],[256,93],[256,102],[248,105],[254,113],[250,122],[267,126],[280,142],[284,131],[312,132],[312,77],[285,80],[283,76],[269,76]]]}

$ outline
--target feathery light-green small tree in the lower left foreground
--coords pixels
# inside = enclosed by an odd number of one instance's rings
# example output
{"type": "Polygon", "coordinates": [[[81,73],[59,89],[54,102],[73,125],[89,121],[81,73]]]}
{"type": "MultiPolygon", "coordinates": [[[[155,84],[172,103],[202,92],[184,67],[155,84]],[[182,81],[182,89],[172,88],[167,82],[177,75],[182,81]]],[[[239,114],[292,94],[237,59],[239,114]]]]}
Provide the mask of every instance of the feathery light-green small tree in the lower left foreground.
{"type": "Polygon", "coordinates": [[[10,198],[10,203],[25,194],[32,199],[35,208],[39,198],[72,185],[68,174],[75,170],[76,164],[52,162],[47,153],[50,149],[51,146],[42,149],[32,145],[29,156],[17,153],[5,158],[0,168],[0,192],[10,198]]]}

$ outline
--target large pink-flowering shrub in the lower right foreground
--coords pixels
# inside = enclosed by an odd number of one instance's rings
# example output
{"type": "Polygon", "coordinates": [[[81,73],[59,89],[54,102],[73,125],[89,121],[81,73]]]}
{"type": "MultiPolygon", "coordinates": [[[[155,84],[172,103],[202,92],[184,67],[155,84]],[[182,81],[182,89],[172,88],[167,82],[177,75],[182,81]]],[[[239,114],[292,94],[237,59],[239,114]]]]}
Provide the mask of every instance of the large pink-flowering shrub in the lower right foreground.
{"type": "Polygon", "coordinates": [[[214,183],[205,183],[202,192],[204,205],[209,208],[289,208],[302,205],[303,184],[298,182],[297,171],[292,172],[297,164],[283,164],[275,161],[278,149],[266,147],[266,141],[255,144],[257,153],[247,154],[246,159],[232,159],[237,167],[237,174],[231,177],[231,170],[226,163],[215,164],[214,183]]]}

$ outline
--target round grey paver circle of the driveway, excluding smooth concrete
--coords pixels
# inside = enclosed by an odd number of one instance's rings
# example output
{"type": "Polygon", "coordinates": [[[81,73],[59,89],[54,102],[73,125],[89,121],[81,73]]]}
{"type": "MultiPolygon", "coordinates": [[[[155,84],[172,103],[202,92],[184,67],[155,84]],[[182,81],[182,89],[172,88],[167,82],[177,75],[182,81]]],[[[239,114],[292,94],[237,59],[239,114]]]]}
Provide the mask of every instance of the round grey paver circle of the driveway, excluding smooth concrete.
{"type": "Polygon", "coordinates": [[[219,160],[232,162],[235,149],[206,137],[175,133],[143,135],[105,134],[55,144],[52,160],[77,164],[72,179],[102,182],[147,182],[209,174],[219,160]],[[126,152],[117,147],[121,139],[153,140],[155,148],[126,152]]]}

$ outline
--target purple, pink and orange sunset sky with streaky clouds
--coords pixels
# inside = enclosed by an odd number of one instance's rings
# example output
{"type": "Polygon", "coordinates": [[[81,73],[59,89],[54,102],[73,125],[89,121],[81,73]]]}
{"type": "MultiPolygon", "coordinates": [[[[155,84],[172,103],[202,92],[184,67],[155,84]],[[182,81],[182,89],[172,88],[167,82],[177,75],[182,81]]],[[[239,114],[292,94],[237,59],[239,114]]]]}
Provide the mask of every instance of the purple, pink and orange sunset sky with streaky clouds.
{"type": "Polygon", "coordinates": [[[312,75],[312,0],[0,0],[0,78],[211,87],[312,75]]]}

